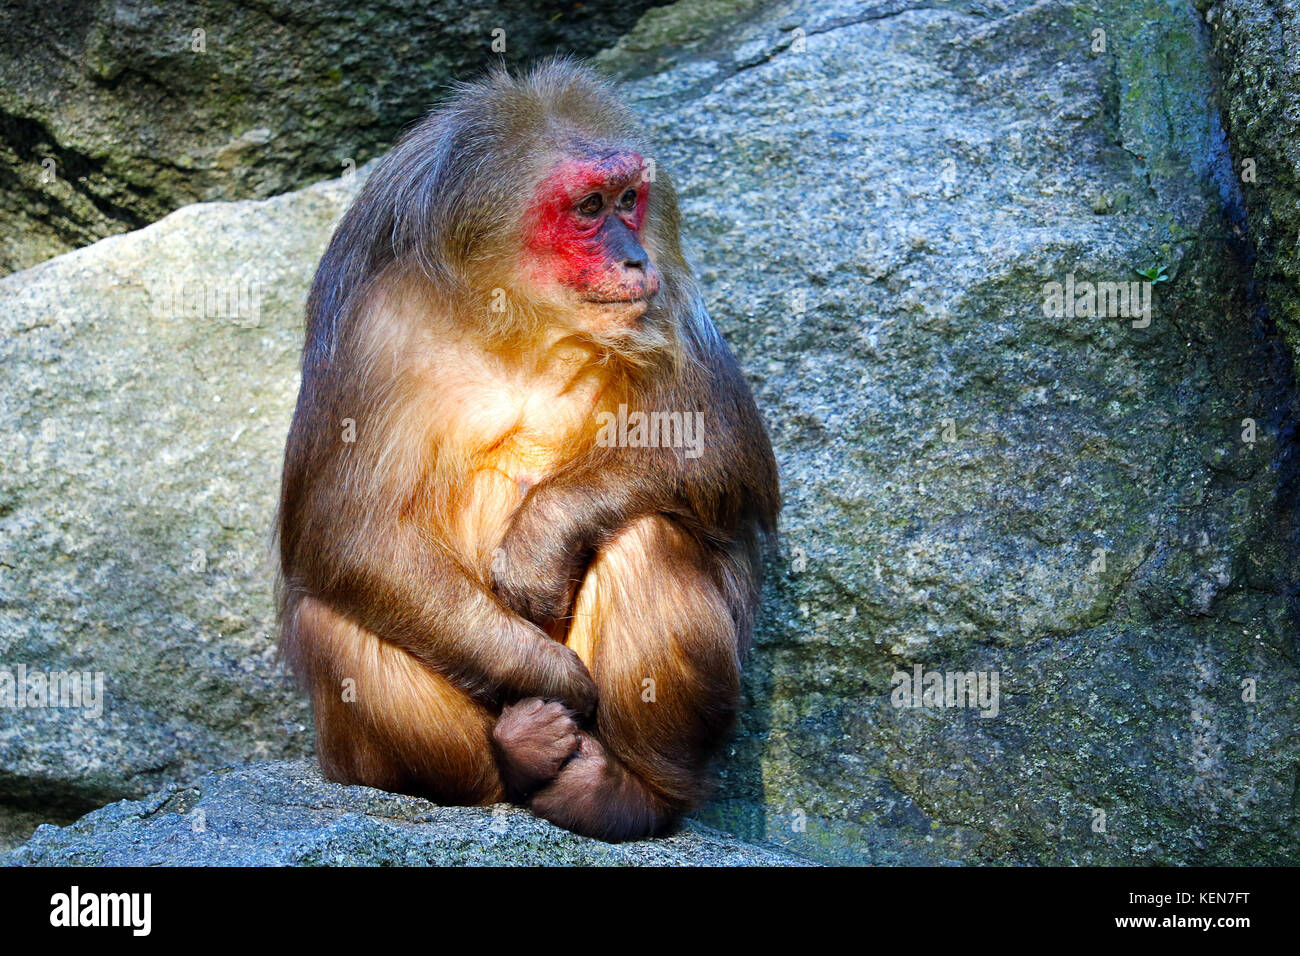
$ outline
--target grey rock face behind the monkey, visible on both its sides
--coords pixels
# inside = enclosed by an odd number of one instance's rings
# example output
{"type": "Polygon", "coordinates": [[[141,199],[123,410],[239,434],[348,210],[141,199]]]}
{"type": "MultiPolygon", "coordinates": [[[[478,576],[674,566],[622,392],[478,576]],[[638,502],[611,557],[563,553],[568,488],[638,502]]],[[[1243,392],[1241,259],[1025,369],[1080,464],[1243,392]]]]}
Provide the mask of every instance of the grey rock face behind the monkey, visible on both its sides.
{"type": "MultiPolygon", "coordinates": [[[[707,822],[835,861],[1296,858],[1294,380],[1210,61],[1191,8],[1121,0],[682,3],[602,57],[786,498],[707,822]],[[1045,308],[1139,269],[1149,323],[1045,308]],[[996,717],[893,706],[916,665],[996,674],[996,717]]],[[[94,724],[0,709],[0,801],[306,752],[263,559],[351,189],[0,281],[0,663],[108,678],[94,724]],[[260,317],[152,313],[162,277],[260,317]]]]}

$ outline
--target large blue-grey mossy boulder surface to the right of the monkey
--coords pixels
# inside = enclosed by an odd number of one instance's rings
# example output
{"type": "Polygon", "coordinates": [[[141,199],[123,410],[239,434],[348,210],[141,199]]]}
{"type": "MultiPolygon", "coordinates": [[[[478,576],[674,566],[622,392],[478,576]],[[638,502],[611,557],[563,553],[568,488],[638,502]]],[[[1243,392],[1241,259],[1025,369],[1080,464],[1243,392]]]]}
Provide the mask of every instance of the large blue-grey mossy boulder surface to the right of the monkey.
{"type": "Polygon", "coordinates": [[[673,17],[603,60],[642,64],[786,497],[712,819],[852,861],[1294,861],[1292,373],[1204,23],[673,17]],[[1045,313],[1152,268],[1149,325],[1045,313]],[[996,672],[997,717],[893,706],[916,665],[996,672]]]}

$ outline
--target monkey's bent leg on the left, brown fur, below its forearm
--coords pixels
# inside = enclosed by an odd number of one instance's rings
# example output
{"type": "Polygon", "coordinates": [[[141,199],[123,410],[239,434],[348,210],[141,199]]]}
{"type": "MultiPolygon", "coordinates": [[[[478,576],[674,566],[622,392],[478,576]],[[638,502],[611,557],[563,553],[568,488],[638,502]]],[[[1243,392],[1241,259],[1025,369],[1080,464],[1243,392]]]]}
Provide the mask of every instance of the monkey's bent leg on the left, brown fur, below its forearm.
{"type": "Polygon", "coordinates": [[[312,597],[290,610],[283,641],[311,689],[329,779],[442,804],[502,799],[488,708],[312,597]]]}

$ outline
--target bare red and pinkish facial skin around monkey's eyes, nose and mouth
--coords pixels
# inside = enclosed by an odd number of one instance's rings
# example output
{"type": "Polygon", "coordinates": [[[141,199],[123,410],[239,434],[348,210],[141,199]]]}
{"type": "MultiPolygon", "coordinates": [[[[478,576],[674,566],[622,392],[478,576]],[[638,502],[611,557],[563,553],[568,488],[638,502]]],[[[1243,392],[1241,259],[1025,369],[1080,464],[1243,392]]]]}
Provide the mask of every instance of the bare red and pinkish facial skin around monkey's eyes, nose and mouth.
{"type": "Polygon", "coordinates": [[[525,226],[533,278],[582,299],[632,303],[659,291],[659,272],[641,247],[650,183],[634,152],[560,163],[534,194],[525,226]],[[633,191],[636,202],[624,202],[633,191]],[[599,208],[582,209],[584,202],[599,208]]]}

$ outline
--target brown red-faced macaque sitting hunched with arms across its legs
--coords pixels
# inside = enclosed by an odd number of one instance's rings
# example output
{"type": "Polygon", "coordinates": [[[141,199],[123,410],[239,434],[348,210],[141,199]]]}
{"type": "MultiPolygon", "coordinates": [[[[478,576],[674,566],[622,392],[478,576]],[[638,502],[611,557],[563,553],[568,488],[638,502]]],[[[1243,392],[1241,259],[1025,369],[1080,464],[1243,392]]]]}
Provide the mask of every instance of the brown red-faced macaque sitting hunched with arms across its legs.
{"type": "Polygon", "coordinates": [[[498,72],[341,221],[278,519],[329,778],[606,840],[707,795],[780,501],[646,156],[588,69],[498,72]]]}

